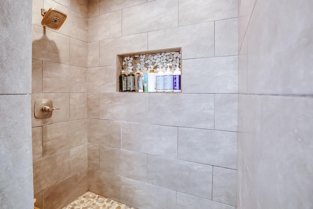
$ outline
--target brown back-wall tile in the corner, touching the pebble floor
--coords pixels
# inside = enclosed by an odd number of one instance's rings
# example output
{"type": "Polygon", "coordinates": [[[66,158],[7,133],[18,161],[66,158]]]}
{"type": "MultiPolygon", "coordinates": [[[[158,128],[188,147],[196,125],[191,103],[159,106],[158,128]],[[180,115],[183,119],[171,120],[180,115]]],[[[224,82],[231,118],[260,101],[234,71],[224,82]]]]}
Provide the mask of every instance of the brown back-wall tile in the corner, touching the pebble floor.
{"type": "Polygon", "coordinates": [[[120,176],[88,168],[88,189],[96,194],[121,201],[120,176]]]}

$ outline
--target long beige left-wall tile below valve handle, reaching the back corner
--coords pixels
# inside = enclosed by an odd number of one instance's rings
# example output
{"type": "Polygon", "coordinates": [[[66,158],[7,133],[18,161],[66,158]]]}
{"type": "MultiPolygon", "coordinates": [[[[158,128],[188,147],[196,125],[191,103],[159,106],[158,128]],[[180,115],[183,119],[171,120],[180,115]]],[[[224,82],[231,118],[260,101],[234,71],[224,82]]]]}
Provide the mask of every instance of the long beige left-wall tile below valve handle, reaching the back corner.
{"type": "Polygon", "coordinates": [[[73,120],[43,127],[44,156],[87,142],[87,120],[73,120]]]}

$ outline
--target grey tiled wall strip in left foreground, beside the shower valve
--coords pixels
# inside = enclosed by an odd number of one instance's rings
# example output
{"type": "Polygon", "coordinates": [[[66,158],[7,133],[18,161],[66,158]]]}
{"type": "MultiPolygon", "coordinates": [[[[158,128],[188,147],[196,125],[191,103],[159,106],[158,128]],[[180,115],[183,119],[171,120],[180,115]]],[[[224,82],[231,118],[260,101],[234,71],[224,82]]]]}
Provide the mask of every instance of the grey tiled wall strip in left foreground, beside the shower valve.
{"type": "Polygon", "coordinates": [[[0,14],[0,208],[30,209],[31,0],[0,1],[0,14]]]}

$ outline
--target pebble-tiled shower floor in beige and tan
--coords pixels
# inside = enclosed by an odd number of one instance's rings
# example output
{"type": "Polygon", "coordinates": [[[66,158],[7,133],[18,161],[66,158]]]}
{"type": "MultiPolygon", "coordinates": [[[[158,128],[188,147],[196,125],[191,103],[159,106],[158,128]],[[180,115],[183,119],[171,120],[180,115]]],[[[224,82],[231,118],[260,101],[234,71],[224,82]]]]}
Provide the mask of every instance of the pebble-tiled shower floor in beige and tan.
{"type": "Polygon", "coordinates": [[[86,192],[63,209],[136,209],[101,195],[86,192]]]}

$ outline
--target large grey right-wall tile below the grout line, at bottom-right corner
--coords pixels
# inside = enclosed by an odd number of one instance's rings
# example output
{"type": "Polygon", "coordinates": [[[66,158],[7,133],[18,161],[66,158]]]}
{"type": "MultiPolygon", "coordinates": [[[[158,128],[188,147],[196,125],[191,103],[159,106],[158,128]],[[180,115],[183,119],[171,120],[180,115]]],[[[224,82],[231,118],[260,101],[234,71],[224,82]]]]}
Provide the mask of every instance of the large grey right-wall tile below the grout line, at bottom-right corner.
{"type": "Polygon", "coordinates": [[[262,96],[259,171],[262,208],[312,207],[312,107],[312,97],[262,96]]]}

